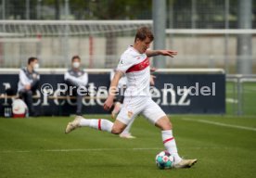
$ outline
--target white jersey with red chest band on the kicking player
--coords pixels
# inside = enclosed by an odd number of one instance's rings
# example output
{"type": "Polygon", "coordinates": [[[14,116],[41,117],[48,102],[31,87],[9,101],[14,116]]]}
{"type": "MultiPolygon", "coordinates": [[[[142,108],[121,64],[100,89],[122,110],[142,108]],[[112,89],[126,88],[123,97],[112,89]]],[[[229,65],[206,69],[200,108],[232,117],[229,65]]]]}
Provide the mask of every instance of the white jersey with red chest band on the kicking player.
{"type": "Polygon", "coordinates": [[[116,70],[122,71],[127,77],[124,96],[150,96],[150,67],[145,53],[140,54],[133,46],[129,46],[122,54],[116,70]]]}

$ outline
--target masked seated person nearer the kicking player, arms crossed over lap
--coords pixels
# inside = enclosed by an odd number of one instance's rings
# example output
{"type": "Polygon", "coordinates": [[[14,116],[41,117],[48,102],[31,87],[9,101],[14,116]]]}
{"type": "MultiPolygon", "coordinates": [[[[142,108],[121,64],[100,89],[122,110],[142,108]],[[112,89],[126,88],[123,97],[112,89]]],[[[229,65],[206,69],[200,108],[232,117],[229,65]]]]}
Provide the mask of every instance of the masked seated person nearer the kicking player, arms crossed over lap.
{"type": "MultiPolygon", "coordinates": [[[[71,59],[72,62],[72,67],[70,70],[68,70],[65,73],[64,79],[65,82],[69,86],[75,86],[74,89],[72,90],[71,95],[76,95],[76,115],[81,116],[82,115],[82,99],[83,99],[83,94],[80,94],[78,92],[79,87],[85,87],[85,85],[88,83],[88,74],[84,72],[83,70],[80,69],[81,66],[81,58],[79,56],[74,56],[71,59]]],[[[69,88],[70,92],[70,88],[69,88]]]]}

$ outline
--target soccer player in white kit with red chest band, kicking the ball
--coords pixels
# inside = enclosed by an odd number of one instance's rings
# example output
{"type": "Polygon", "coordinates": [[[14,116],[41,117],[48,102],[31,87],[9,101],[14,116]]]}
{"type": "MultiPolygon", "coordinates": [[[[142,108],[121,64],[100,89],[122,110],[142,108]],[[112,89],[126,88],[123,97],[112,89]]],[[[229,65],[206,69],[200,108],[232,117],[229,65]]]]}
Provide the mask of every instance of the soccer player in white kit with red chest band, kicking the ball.
{"type": "Polygon", "coordinates": [[[144,115],[148,121],[159,127],[162,142],[166,150],[174,157],[174,168],[191,167],[197,159],[181,159],[175,139],[173,137],[173,125],[163,110],[149,95],[150,67],[148,57],[158,55],[173,57],[177,52],[172,50],[149,50],[149,45],[154,40],[152,32],[147,27],[139,28],[136,32],[134,45],[129,46],[122,54],[115,76],[110,84],[109,96],[104,104],[104,109],[109,110],[113,105],[117,85],[126,73],[127,89],[124,93],[123,107],[116,121],[104,119],[84,119],[77,116],[74,121],[68,123],[66,134],[82,126],[107,131],[111,134],[121,134],[130,121],[138,114],[144,115]]]}

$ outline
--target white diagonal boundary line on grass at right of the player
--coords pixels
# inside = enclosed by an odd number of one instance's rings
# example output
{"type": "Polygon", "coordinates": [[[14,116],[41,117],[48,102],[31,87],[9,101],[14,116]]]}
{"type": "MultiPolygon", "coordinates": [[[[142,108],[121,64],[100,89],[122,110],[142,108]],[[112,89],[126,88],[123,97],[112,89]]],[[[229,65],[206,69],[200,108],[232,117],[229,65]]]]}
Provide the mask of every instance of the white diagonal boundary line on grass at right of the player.
{"type": "Polygon", "coordinates": [[[218,125],[218,126],[230,127],[230,128],[236,128],[236,129],[242,129],[242,130],[248,130],[248,131],[256,131],[256,128],[239,126],[239,125],[231,125],[231,124],[221,123],[221,122],[217,122],[217,121],[193,120],[193,119],[189,119],[189,118],[183,118],[182,120],[197,121],[197,122],[201,122],[201,123],[209,123],[211,125],[218,125]]]}

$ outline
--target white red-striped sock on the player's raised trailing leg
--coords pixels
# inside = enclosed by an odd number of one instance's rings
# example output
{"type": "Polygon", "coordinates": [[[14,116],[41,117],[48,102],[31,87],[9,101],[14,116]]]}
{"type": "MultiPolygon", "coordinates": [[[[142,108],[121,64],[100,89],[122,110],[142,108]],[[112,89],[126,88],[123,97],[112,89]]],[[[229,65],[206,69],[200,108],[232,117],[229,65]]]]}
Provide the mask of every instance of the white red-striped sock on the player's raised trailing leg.
{"type": "Polygon", "coordinates": [[[91,127],[99,131],[107,131],[111,133],[113,122],[104,119],[82,119],[79,123],[80,126],[91,127]]]}

